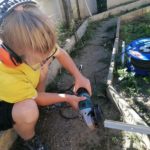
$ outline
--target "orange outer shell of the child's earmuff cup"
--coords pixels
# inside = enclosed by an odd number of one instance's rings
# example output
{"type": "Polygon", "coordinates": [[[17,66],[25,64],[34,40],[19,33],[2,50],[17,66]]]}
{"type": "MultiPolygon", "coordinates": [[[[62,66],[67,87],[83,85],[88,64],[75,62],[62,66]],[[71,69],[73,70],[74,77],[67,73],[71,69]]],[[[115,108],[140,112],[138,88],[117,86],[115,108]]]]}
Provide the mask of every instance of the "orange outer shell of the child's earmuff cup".
{"type": "Polygon", "coordinates": [[[19,65],[15,58],[6,51],[3,47],[0,46],[0,60],[8,67],[14,68],[19,65]]]}

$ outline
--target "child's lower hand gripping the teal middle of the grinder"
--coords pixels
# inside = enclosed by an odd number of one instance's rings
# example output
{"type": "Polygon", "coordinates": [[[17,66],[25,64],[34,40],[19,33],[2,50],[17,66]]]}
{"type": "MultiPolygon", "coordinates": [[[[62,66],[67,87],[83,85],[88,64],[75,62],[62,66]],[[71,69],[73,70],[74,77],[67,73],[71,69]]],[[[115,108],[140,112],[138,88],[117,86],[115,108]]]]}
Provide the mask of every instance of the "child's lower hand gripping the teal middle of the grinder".
{"type": "Polygon", "coordinates": [[[76,95],[68,95],[67,102],[72,106],[73,109],[79,109],[79,102],[85,100],[86,97],[78,97],[76,95]]]}

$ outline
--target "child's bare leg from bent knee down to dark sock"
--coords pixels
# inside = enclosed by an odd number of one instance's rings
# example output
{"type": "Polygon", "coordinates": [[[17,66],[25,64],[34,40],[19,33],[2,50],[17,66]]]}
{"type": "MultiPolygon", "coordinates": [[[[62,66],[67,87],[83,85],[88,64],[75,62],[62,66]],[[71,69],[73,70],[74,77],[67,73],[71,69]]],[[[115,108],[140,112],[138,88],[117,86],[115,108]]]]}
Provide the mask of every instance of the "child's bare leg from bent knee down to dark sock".
{"type": "Polygon", "coordinates": [[[12,117],[14,129],[24,140],[35,135],[35,125],[39,117],[39,110],[34,100],[25,100],[14,104],[12,117]]]}

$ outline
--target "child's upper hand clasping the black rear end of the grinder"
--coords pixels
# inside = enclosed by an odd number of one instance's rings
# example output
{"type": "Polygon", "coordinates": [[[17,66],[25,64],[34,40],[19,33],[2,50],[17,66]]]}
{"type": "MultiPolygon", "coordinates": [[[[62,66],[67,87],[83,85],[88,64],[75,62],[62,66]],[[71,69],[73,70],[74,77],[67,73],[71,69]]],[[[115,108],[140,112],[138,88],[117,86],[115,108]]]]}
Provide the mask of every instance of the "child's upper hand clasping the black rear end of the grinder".
{"type": "Polygon", "coordinates": [[[78,77],[77,79],[75,79],[75,86],[74,86],[73,91],[76,93],[77,90],[78,90],[80,87],[85,88],[85,89],[88,91],[88,93],[89,93],[90,95],[92,95],[92,89],[91,89],[90,81],[89,81],[89,79],[87,79],[87,78],[84,77],[83,75],[81,75],[80,77],[78,77]]]}

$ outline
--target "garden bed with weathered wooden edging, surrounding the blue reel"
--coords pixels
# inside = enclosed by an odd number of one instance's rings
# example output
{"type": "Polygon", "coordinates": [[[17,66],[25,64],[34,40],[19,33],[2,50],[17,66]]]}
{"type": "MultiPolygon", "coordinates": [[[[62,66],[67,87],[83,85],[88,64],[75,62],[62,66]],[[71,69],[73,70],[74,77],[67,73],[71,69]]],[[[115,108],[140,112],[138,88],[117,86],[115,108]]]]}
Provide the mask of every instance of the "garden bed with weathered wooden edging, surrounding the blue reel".
{"type": "MultiPolygon", "coordinates": [[[[145,38],[150,35],[149,12],[150,7],[146,7],[119,18],[108,75],[109,80],[107,81],[108,95],[111,96],[122,112],[123,120],[127,123],[142,124],[144,126],[150,125],[150,77],[135,77],[133,73],[126,71],[126,65],[121,65],[121,44],[122,41],[125,41],[127,45],[135,39],[145,38]],[[112,72],[114,73],[112,74],[112,72]]],[[[144,147],[140,147],[141,145],[136,146],[137,149],[149,149],[150,141],[148,136],[137,134],[137,139],[145,143],[144,147]]]]}

